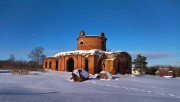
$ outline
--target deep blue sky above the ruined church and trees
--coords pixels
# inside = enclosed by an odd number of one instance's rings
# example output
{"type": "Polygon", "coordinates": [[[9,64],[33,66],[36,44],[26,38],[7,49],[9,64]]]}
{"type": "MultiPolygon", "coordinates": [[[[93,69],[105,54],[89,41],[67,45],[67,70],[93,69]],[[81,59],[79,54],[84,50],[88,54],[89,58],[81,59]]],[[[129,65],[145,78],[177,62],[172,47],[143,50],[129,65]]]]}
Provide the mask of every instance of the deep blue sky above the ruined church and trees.
{"type": "Polygon", "coordinates": [[[76,38],[105,33],[107,49],[148,65],[180,66],[180,0],[0,0],[0,60],[76,50],[76,38]]]}

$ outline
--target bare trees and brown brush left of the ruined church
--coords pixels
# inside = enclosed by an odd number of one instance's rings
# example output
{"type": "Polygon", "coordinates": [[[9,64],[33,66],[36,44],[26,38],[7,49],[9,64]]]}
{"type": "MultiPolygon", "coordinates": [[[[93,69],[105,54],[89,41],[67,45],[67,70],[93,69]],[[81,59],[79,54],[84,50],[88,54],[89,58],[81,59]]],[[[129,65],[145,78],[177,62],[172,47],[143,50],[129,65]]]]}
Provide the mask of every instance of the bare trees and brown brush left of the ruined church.
{"type": "Polygon", "coordinates": [[[33,50],[31,50],[27,57],[29,61],[16,60],[15,56],[12,54],[7,60],[0,60],[0,69],[41,69],[43,65],[43,59],[46,57],[44,55],[44,48],[35,47],[33,50]]]}

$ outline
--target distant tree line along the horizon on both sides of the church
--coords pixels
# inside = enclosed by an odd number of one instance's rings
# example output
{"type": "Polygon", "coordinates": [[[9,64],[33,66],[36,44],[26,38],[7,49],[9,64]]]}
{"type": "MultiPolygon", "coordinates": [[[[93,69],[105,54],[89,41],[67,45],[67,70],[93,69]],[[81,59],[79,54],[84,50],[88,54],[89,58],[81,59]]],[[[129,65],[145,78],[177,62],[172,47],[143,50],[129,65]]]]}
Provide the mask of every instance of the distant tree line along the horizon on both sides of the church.
{"type": "MultiPolygon", "coordinates": [[[[33,50],[31,50],[27,57],[30,59],[30,61],[16,60],[15,56],[12,54],[7,60],[0,60],[0,69],[41,69],[43,67],[43,59],[46,58],[44,55],[44,48],[35,47],[33,50]]],[[[171,71],[174,71],[177,76],[180,76],[180,67],[164,65],[147,67],[148,62],[146,60],[147,58],[145,56],[138,54],[137,57],[133,59],[132,64],[134,65],[135,69],[140,69],[141,72],[144,71],[146,74],[155,75],[159,68],[169,68],[171,71]]]]}

